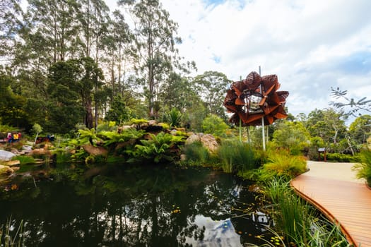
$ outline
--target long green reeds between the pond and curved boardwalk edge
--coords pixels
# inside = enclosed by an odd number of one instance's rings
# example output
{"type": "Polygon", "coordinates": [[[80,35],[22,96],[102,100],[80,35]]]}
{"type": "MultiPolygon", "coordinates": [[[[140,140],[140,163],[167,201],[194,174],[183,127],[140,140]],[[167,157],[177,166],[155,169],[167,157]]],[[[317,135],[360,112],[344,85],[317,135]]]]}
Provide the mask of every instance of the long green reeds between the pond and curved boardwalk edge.
{"type": "Polygon", "coordinates": [[[340,227],[295,195],[285,179],[270,180],[264,191],[273,203],[274,229],[288,237],[288,246],[350,246],[340,227]]]}

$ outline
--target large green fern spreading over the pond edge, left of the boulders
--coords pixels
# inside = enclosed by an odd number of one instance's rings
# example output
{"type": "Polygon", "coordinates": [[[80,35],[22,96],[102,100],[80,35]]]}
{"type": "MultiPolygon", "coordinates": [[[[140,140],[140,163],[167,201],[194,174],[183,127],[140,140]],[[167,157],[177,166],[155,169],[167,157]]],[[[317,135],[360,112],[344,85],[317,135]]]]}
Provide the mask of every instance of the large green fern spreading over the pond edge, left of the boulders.
{"type": "Polygon", "coordinates": [[[134,157],[153,160],[158,163],[161,161],[172,161],[171,149],[175,144],[184,141],[183,136],[175,136],[169,133],[158,133],[158,135],[148,134],[149,140],[141,140],[141,145],[135,146],[134,157]]]}

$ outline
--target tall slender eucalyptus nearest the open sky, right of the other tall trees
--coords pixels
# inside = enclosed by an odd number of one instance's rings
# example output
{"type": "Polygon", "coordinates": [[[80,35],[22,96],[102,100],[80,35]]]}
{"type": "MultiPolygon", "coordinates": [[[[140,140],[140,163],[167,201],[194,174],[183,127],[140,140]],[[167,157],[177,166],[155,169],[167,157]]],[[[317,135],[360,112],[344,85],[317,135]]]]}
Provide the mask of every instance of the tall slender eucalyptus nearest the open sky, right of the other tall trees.
{"type": "Polygon", "coordinates": [[[158,0],[119,0],[127,6],[134,20],[134,46],[131,54],[135,59],[139,82],[144,85],[150,116],[155,116],[158,88],[173,69],[177,59],[175,44],[178,25],[158,0]]]}

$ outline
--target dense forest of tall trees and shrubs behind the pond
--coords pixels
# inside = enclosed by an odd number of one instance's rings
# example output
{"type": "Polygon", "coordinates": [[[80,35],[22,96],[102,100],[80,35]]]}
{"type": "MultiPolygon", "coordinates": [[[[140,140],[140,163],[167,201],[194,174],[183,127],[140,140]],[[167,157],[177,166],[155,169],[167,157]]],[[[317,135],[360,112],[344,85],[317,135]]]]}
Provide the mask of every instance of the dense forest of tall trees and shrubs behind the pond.
{"type": "MultiPolygon", "coordinates": [[[[1,1],[0,124],[69,133],[102,121],[165,121],[172,109],[193,131],[215,134],[218,119],[228,123],[223,100],[231,81],[218,71],[191,76],[196,64],[179,56],[177,23],[160,1],[118,4],[111,11],[103,0],[28,0],[23,9],[20,0],[1,1]]],[[[343,105],[333,106],[289,114],[269,126],[268,140],[298,152],[358,152],[371,116],[348,128],[343,105]]],[[[259,135],[250,128],[245,138],[259,144],[259,135]]]]}

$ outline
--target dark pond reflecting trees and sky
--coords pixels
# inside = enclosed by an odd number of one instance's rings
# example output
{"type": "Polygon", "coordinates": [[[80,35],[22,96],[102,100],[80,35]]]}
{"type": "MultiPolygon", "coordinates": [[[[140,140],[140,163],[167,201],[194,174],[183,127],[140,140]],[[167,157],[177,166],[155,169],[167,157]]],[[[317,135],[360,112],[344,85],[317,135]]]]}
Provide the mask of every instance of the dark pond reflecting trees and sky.
{"type": "Polygon", "coordinates": [[[15,236],[23,222],[24,246],[261,244],[270,219],[251,186],[207,168],[56,167],[1,188],[0,224],[15,236]]]}

